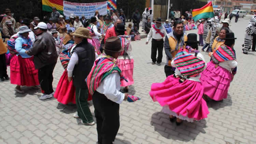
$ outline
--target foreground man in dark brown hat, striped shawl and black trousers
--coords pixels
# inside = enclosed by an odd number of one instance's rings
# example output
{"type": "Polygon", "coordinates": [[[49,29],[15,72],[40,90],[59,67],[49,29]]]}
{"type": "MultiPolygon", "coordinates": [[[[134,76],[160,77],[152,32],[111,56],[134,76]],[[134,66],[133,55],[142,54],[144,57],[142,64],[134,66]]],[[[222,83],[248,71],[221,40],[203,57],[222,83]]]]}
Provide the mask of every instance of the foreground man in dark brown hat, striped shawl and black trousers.
{"type": "Polygon", "coordinates": [[[99,144],[112,144],[118,132],[119,104],[128,98],[120,92],[122,71],[116,65],[116,58],[124,51],[120,38],[110,37],[103,47],[104,55],[94,62],[86,83],[93,95],[99,144]]]}

